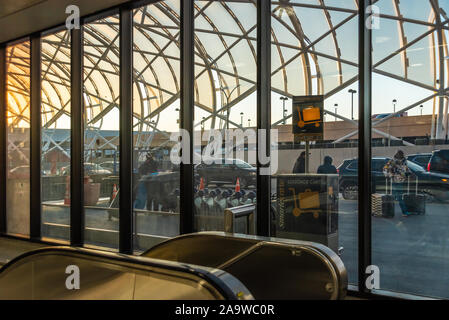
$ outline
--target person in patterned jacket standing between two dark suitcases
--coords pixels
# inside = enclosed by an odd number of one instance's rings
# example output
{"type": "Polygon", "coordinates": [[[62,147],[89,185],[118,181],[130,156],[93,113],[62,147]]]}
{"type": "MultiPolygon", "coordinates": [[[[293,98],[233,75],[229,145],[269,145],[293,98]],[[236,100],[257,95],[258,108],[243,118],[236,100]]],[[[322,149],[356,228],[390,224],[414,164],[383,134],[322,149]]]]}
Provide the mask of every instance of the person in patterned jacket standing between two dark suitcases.
{"type": "Polygon", "coordinates": [[[383,173],[386,178],[393,179],[393,197],[399,202],[402,216],[408,217],[410,213],[407,212],[407,206],[402,195],[404,193],[404,183],[407,181],[408,176],[410,176],[411,171],[407,167],[407,159],[402,150],[396,152],[393,159],[387,162],[383,168],[383,173]]]}

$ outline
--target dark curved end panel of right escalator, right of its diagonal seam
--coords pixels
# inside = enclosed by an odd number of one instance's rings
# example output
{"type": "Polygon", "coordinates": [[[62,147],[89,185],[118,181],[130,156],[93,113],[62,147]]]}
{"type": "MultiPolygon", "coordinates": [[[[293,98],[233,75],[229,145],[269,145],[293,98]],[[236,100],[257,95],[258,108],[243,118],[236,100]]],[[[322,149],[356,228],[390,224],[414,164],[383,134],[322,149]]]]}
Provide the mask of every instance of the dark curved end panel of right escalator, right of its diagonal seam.
{"type": "Polygon", "coordinates": [[[332,268],[305,248],[259,246],[223,270],[251,288],[255,299],[334,300],[345,294],[336,292],[338,280],[332,268]]]}

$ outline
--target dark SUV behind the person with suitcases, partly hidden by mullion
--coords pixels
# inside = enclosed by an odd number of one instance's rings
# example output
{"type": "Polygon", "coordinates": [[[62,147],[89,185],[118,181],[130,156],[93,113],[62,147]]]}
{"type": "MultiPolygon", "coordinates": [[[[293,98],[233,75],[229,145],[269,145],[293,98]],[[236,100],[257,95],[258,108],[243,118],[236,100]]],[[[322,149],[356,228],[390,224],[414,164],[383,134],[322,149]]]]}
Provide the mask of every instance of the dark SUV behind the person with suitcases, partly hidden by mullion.
{"type": "MultiPolygon", "coordinates": [[[[390,160],[386,157],[377,157],[371,160],[372,192],[385,193],[385,176],[383,167],[390,160]]],[[[418,192],[428,195],[439,201],[449,200],[449,174],[426,171],[422,166],[407,161],[412,176],[410,178],[410,192],[415,192],[415,177],[418,178],[418,192]]],[[[340,176],[340,192],[344,199],[356,200],[358,197],[357,159],[344,160],[338,167],[340,176]]],[[[407,183],[402,184],[407,191],[407,183]]]]}

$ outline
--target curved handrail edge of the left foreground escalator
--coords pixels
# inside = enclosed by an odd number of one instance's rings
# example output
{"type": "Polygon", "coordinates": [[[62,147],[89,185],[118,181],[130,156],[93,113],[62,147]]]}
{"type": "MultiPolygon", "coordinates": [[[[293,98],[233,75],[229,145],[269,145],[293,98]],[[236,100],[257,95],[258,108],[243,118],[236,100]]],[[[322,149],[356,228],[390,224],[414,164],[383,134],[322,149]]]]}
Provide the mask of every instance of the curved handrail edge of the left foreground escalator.
{"type": "Polygon", "coordinates": [[[185,273],[206,281],[211,287],[218,291],[224,299],[239,300],[242,297],[245,297],[246,299],[253,299],[249,290],[237,278],[217,268],[68,246],[44,247],[27,251],[4,264],[0,268],[0,277],[6,271],[9,271],[11,268],[13,268],[16,263],[20,263],[20,261],[22,261],[23,259],[45,254],[59,254],[69,256],[78,255],[82,258],[87,259],[96,258],[116,261],[118,263],[128,264],[127,267],[134,269],[140,269],[138,266],[143,266],[150,268],[159,268],[171,272],[185,273]],[[225,281],[223,280],[223,278],[226,278],[230,281],[225,281]],[[235,292],[237,290],[233,290],[230,284],[233,284],[234,287],[237,287],[238,292],[235,292]]]}

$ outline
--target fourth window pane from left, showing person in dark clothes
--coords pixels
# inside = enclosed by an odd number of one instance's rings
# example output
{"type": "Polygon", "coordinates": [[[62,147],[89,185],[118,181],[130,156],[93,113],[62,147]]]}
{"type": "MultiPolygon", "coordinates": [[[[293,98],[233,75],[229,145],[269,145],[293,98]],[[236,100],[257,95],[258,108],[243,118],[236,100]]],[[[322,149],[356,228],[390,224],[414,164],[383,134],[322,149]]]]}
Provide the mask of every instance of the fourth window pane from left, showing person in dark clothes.
{"type": "Polygon", "coordinates": [[[179,233],[179,167],[170,161],[179,131],[179,1],[134,11],[134,248],[179,233]]]}

